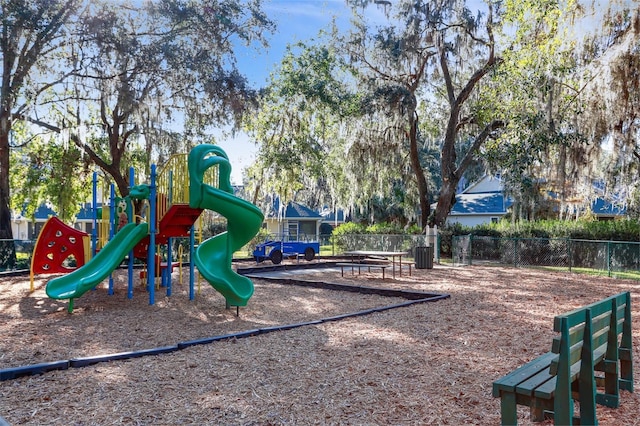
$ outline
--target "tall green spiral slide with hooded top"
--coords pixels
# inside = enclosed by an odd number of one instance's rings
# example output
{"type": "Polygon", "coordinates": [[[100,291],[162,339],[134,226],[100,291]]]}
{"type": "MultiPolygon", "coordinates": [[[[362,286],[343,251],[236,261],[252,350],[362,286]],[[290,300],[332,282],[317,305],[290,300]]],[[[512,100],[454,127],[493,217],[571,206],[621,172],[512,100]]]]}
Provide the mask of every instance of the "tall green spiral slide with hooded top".
{"type": "Polygon", "coordinates": [[[253,283],[231,268],[233,253],[260,230],[264,215],[255,205],[233,195],[231,165],[216,145],[198,145],[189,152],[189,206],[213,210],[227,219],[227,231],[202,242],[194,263],[200,275],[224,296],[227,306],[246,306],[253,283]],[[203,183],[207,169],[218,166],[218,188],[203,183]]]}

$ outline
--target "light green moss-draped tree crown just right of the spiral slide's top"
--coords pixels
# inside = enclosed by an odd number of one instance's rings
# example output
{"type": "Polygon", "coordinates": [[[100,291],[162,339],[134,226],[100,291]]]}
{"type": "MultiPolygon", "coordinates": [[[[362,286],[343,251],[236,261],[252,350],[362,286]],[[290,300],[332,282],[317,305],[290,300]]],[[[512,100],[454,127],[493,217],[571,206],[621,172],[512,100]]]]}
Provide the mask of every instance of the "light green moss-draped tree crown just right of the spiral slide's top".
{"type": "Polygon", "coordinates": [[[259,198],[276,194],[283,202],[319,207],[328,192],[342,192],[339,120],[350,113],[355,95],[336,77],[340,68],[328,43],[288,47],[257,113],[247,115],[244,123],[260,146],[250,170],[251,190],[259,198]]]}

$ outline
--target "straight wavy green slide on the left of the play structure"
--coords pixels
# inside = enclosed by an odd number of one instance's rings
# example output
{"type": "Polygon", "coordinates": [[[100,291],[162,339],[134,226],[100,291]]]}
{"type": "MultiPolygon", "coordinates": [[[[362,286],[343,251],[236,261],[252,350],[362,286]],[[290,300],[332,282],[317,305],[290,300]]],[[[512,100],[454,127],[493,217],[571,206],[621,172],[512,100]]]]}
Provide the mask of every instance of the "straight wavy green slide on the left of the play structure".
{"type": "Polygon", "coordinates": [[[52,299],[69,299],[69,312],[73,311],[73,299],[100,284],[116,269],[125,256],[149,233],[146,223],[125,225],[89,262],[75,271],[54,278],[47,283],[47,296],[52,299]]]}

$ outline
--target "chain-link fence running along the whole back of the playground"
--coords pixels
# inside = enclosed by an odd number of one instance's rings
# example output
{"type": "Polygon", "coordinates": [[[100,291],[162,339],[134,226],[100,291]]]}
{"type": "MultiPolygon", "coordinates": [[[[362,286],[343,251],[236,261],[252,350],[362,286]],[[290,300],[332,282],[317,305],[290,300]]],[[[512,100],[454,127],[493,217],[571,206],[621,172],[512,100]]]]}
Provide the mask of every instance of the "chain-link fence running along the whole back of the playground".
{"type": "MultiPolygon", "coordinates": [[[[188,261],[188,240],[180,253],[188,261]]],[[[184,240],[184,241],[183,241],[184,240]]],[[[434,261],[440,261],[440,237],[426,235],[357,234],[319,236],[323,255],[339,256],[351,250],[406,251],[415,258],[416,248],[434,247],[434,261]]],[[[513,267],[546,267],[574,272],[587,272],[610,277],[640,279],[640,243],[626,241],[593,241],[565,238],[497,238],[473,235],[452,237],[452,262],[455,266],[484,264],[513,267]]],[[[15,250],[15,262],[2,262],[0,271],[29,269],[34,241],[4,240],[15,250]]],[[[5,247],[6,249],[7,247],[5,247]]],[[[251,257],[253,248],[239,253],[251,257]]],[[[238,254],[239,254],[238,253],[238,254]]],[[[13,256],[11,256],[13,257],[13,256]]],[[[173,257],[178,257],[174,247],[173,257]]]]}

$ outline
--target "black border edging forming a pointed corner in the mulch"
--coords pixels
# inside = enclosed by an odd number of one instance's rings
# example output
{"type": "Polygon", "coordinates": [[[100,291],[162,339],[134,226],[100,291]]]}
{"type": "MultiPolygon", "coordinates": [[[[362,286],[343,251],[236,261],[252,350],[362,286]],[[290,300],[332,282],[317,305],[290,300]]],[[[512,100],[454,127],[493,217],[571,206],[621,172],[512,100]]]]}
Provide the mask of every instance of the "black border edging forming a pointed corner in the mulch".
{"type": "MultiPolygon", "coordinates": [[[[323,264],[322,266],[320,266],[317,263],[310,264],[310,265],[313,265],[313,267],[315,268],[334,266],[332,263],[323,264]]],[[[303,269],[303,268],[308,269],[311,267],[312,266],[308,266],[307,264],[304,264],[304,266],[302,266],[299,269],[303,269]]],[[[238,272],[243,275],[250,276],[251,273],[256,272],[257,269],[258,268],[247,268],[246,270],[240,270],[238,272]]],[[[269,268],[269,269],[273,270],[274,268],[269,268]]],[[[291,268],[291,269],[294,269],[294,268],[291,268]]],[[[295,268],[295,269],[298,269],[298,268],[295,268]]],[[[151,355],[161,355],[161,354],[176,352],[191,346],[207,345],[210,343],[215,343],[215,342],[229,340],[229,339],[243,339],[247,337],[258,336],[260,334],[267,334],[267,333],[273,333],[273,332],[284,331],[284,330],[292,330],[294,328],[307,327],[310,325],[318,325],[318,324],[331,322],[331,321],[340,321],[347,318],[360,317],[360,316],[369,315],[377,312],[388,311],[391,309],[403,308],[403,307],[418,304],[418,303],[435,302],[438,300],[448,299],[449,297],[451,297],[449,294],[434,294],[434,293],[411,292],[406,290],[391,290],[391,289],[384,289],[384,288],[373,288],[373,287],[362,287],[362,286],[353,286],[353,285],[336,284],[336,283],[326,283],[322,281],[305,281],[305,280],[295,280],[290,278],[282,279],[282,278],[272,278],[272,277],[263,277],[263,276],[259,276],[259,277],[256,276],[253,278],[258,278],[264,281],[276,282],[279,284],[296,285],[296,286],[302,286],[302,287],[322,288],[326,290],[337,290],[337,291],[348,291],[348,292],[360,293],[360,294],[376,294],[376,295],[385,296],[385,297],[400,297],[403,299],[407,299],[407,302],[380,306],[377,308],[365,309],[362,311],[350,312],[347,314],[335,315],[332,317],[321,318],[318,320],[313,320],[308,322],[276,325],[271,327],[240,331],[238,333],[223,334],[220,336],[213,336],[213,337],[204,337],[202,339],[178,342],[176,345],[162,346],[158,348],[143,349],[139,351],[130,351],[130,352],[119,352],[114,354],[96,355],[96,356],[89,356],[89,357],[72,358],[70,360],[43,362],[39,364],[24,365],[20,367],[4,368],[4,369],[0,369],[0,382],[13,380],[13,379],[17,379],[25,376],[41,375],[49,371],[67,370],[69,368],[82,368],[82,367],[86,367],[89,365],[94,365],[102,362],[119,361],[119,360],[126,360],[126,359],[132,359],[132,358],[140,358],[143,356],[151,356],[151,355]]],[[[0,418],[0,420],[2,419],[0,418]]],[[[0,422],[0,426],[2,426],[1,422],[0,422]]]]}

